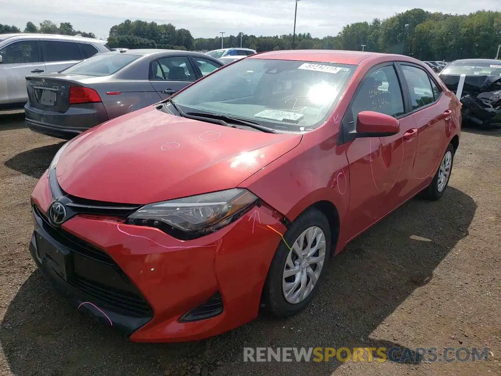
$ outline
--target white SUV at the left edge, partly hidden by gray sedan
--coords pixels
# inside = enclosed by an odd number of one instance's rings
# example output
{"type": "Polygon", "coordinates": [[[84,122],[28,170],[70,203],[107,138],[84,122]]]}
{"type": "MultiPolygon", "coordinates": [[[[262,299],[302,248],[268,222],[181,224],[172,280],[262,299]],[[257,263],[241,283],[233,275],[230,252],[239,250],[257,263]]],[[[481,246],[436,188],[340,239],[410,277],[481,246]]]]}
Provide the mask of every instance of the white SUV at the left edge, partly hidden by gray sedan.
{"type": "Polygon", "coordinates": [[[0,34],[0,110],[28,102],[26,76],[59,72],[109,52],[106,41],[47,34],[0,34]]]}

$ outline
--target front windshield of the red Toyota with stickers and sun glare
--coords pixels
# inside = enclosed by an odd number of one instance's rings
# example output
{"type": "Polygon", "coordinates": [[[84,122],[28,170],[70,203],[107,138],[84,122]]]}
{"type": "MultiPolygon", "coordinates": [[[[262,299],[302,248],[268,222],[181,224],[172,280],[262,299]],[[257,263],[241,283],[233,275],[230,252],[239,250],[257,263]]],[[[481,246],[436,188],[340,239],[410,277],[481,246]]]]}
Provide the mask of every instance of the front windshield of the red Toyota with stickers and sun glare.
{"type": "Polygon", "coordinates": [[[209,112],[285,131],[309,131],[330,115],[356,65],[244,59],[172,97],[185,112],[209,112]]]}

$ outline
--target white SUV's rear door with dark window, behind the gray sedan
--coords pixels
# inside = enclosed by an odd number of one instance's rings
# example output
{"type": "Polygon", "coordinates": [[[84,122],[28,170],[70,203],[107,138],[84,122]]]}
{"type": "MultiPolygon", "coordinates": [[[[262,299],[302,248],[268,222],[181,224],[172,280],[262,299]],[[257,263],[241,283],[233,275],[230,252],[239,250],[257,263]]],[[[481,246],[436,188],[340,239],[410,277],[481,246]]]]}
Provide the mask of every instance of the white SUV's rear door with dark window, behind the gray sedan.
{"type": "Polygon", "coordinates": [[[77,42],[41,40],[47,73],[57,73],[83,60],[77,42]]]}

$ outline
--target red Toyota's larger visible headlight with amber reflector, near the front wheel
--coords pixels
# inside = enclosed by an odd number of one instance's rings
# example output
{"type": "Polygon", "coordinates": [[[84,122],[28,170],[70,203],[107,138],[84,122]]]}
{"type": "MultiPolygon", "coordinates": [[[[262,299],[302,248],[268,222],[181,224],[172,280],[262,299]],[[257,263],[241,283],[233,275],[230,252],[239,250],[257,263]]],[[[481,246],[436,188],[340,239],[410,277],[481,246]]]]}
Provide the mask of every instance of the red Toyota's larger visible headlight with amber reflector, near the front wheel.
{"type": "Polygon", "coordinates": [[[170,229],[177,238],[192,239],[229,224],[257,200],[244,189],[191,196],[145,205],[128,217],[128,223],[170,229]]]}

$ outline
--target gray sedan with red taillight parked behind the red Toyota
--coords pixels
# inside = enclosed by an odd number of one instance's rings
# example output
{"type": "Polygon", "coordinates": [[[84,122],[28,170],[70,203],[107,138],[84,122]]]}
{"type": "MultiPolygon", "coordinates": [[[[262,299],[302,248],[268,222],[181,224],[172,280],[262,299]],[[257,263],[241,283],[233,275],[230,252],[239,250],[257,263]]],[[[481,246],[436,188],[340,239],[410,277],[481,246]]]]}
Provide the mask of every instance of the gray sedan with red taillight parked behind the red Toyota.
{"type": "Polygon", "coordinates": [[[121,50],[56,74],[26,77],[31,130],[71,139],[109,119],[170,97],[223,64],[178,50],[121,50]]]}

